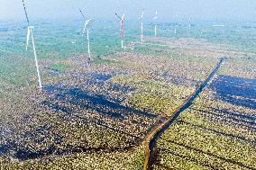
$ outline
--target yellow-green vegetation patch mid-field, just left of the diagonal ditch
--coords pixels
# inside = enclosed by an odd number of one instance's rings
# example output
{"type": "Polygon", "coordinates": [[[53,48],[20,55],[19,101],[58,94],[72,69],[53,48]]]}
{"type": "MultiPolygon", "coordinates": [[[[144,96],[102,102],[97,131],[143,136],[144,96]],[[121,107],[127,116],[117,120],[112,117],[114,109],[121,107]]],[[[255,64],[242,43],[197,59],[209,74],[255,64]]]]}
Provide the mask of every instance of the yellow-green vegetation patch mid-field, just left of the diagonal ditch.
{"type": "Polygon", "coordinates": [[[126,104],[142,111],[164,115],[171,115],[193,92],[192,88],[152,80],[147,75],[115,76],[113,81],[137,89],[126,104]]]}

